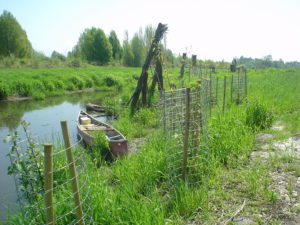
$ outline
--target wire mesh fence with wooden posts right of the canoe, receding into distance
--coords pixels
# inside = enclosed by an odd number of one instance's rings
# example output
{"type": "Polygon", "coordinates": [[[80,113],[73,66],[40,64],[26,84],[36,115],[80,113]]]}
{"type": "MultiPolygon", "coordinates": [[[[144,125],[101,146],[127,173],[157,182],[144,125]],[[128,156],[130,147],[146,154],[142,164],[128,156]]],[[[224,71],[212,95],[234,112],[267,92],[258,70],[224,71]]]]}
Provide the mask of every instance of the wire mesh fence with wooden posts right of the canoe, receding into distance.
{"type": "Polygon", "coordinates": [[[242,67],[237,73],[190,67],[188,75],[193,87],[161,92],[159,106],[169,175],[197,183],[207,159],[202,147],[208,144],[209,118],[214,111],[224,113],[228,104],[240,104],[246,98],[247,73],[242,67]]]}

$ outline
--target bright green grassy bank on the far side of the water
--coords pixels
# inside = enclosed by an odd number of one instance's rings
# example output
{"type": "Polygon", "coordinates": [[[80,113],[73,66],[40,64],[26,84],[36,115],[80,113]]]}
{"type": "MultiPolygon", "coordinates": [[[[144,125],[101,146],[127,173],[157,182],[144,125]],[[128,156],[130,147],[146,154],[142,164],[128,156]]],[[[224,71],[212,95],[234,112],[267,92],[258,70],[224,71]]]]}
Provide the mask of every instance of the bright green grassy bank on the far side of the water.
{"type": "Polygon", "coordinates": [[[0,69],[0,100],[47,96],[95,88],[126,92],[136,84],[137,68],[87,67],[53,69],[0,69]]]}

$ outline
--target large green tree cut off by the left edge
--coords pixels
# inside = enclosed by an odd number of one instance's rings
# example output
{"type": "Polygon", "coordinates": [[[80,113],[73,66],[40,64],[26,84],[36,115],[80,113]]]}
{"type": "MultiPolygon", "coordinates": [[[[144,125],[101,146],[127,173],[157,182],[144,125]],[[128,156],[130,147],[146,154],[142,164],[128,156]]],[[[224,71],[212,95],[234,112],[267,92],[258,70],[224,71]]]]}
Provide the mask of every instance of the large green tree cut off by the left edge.
{"type": "Polygon", "coordinates": [[[8,11],[0,16],[0,56],[28,57],[32,53],[26,32],[8,11]]]}

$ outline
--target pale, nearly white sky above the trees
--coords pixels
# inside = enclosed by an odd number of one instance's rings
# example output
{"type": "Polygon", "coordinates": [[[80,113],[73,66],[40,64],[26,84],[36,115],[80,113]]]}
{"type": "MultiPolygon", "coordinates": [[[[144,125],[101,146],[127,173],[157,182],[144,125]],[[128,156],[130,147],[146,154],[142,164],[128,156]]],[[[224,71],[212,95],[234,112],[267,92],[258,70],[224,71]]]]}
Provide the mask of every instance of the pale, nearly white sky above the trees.
{"type": "Polygon", "coordinates": [[[167,23],[167,46],[201,59],[250,56],[300,61],[299,0],[1,0],[26,30],[34,49],[66,54],[85,28],[119,39],[140,27],[167,23]]]}

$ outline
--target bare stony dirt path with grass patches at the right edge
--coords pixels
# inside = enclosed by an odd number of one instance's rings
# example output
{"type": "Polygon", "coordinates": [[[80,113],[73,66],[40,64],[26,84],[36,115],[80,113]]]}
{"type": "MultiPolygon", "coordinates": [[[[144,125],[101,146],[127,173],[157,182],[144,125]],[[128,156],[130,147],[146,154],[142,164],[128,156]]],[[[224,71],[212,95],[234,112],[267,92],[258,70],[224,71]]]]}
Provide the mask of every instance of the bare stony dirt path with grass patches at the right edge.
{"type": "MultiPolygon", "coordinates": [[[[279,124],[272,129],[281,132],[284,126],[279,124]]],[[[250,157],[251,164],[272,165],[268,171],[271,180],[268,188],[274,193],[274,202],[265,203],[260,214],[269,217],[270,221],[280,221],[279,224],[300,224],[300,135],[275,141],[271,133],[260,133],[257,135],[256,151],[250,157]]],[[[234,220],[235,224],[259,224],[254,221],[243,217],[234,220]]]]}

